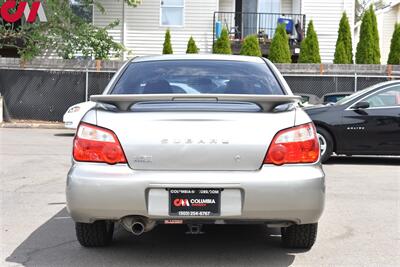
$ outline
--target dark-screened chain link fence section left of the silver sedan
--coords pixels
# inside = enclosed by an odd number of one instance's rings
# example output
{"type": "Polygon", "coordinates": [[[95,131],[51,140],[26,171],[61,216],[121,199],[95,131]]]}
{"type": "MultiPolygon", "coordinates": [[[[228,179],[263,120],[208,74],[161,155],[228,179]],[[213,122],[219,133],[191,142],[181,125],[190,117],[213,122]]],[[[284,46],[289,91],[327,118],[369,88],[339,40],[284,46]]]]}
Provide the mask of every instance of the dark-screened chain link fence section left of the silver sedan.
{"type": "Polygon", "coordinates": [[[62,121],[67,109],[101,94],[114,72],[2,70],[5,119],[62,121]]]}

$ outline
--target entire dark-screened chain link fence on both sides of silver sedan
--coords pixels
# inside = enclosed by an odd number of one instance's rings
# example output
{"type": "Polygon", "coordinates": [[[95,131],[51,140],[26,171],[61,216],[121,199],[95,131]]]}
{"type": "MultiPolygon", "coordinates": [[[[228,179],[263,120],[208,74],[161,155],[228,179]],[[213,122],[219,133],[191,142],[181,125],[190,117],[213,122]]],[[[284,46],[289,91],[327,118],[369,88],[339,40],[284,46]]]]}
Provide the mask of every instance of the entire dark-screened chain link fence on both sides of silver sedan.
{"type": "MultiPolygon", "coordinates": [[[[101,94],[115,71],[0,69],[5,119],[62,121],[67,109],[101,94]]],[[[400,76],[284,74],[295,94],[321,98],[333,92],[355,92],[400,76]]]]}

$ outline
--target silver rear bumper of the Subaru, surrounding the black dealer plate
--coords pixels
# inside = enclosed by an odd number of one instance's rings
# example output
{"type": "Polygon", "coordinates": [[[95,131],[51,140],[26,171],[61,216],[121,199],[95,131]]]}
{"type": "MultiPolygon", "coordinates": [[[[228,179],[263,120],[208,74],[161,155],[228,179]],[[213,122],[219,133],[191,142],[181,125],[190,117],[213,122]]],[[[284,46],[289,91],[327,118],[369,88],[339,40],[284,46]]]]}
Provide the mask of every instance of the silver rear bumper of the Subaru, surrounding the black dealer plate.
{"type": "Polygon", "coordinates": [[[221,215],[195,220],[315,223],[325,202],[320,164],[265,165],[258,171],[134,171],[127,165],[75,163],[68,173],[67,208],[78,222],[168,215],[167,188],[221,188],[221,215]]]}

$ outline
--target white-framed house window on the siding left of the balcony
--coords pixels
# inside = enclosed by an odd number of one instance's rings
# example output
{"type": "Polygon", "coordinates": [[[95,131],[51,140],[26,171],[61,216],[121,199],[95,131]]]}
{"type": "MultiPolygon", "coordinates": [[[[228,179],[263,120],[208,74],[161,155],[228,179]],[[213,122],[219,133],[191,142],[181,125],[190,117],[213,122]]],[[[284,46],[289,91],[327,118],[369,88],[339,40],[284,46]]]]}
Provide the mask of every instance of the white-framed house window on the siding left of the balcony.
{"type": "Polygon", "coordinates": [[[183,26],[184,0],[161,0],[161,25],[183,26]]]}

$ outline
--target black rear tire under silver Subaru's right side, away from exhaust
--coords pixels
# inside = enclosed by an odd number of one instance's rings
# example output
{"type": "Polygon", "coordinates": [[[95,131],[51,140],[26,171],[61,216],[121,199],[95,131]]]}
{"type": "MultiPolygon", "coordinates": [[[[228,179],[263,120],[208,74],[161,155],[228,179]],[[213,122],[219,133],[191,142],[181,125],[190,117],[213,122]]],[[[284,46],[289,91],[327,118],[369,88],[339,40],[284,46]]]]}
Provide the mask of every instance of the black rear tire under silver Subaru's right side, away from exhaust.
{"type": "Polygon", "coordinates": [[[286,248],[310,249],[317,238],[318,223],[282,227],[282,242],[286,248]]]}

